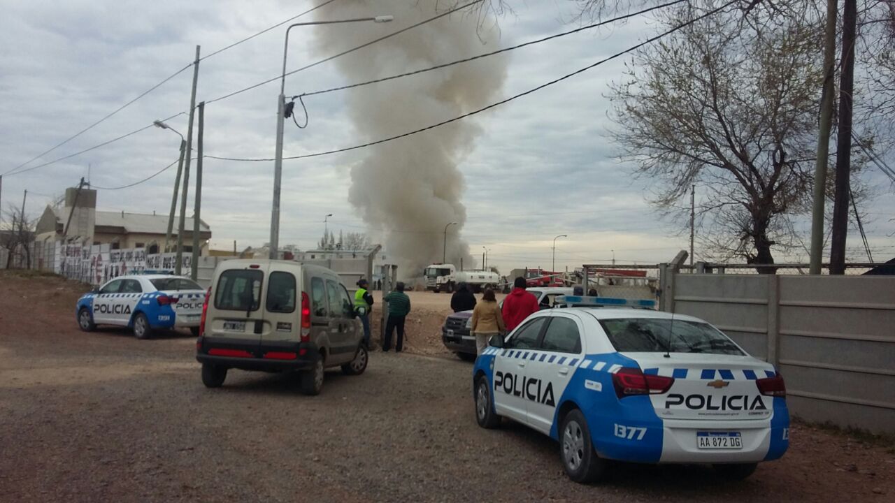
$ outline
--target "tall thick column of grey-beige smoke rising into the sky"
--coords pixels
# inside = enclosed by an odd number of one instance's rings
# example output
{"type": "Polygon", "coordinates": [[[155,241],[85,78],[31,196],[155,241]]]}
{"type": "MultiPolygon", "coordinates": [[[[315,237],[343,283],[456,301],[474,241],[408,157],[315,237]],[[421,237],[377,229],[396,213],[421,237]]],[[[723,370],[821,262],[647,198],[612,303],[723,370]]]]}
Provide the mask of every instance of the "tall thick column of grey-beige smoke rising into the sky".
{"type": "MultiPolygon", "coordinates": [[[[443,13],[444,0],[340,0],[315,11],[319,20],[392,14],[388,24],[358,23],[347,30],[323,26],[315,30],[321,55],[358,46],[373,38],[443,13]]],[[[498,48],[493,23],[482,22],[475,6],[406,31],[338,58],[348,82],[447,63],[498,48]]],[[[483,107],[499,94],[507,62],[490,56],[395,81],[348,91],[346,108],[358,143],[409,132],[483,107]]],[[[457,165],[472,151],[481,132],[473,119],[447,124],[364,150],[351,169],[348,200],[371,229],[383,229],[385,250],[396,260],[402,277],[442,259],[443,231],[448,223],[447,261],[474,266],[469,246],[460,237],[466,209],[465,189],[457,165]]]]}

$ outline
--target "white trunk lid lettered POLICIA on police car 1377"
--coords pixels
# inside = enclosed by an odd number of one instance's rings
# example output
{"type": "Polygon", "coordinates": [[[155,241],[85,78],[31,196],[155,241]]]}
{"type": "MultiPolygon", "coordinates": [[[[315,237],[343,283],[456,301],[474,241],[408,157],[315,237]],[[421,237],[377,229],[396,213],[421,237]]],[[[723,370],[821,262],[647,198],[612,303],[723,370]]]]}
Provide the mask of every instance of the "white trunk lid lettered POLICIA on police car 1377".
{"type": "Polygon", "coordinates": [[[755,381],[774,375],[773,366],[748,355],[622,353],[647,375],[673,378],[666,393],[650,395],[657,416],[687,420],[767,420],[771,396],[755,381]]]}

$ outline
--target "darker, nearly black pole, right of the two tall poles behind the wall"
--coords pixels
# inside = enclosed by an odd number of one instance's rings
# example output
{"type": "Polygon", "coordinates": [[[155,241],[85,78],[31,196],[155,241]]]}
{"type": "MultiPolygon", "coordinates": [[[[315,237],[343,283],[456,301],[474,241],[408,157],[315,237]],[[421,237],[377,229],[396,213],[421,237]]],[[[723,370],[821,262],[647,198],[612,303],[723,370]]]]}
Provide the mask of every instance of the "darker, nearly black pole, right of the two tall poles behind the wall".
{"type": "Polygon", "coordinates": [[[833,199],[833,228],[830,274],[845,274],[845,244],[848,237],[848,189],[851,172],[852,91],[855,81],[855,32],[857,0],[844,0],[842,11],[842,71],[840,72],[839,129],[836,139],[836,191],[833,199]]]}

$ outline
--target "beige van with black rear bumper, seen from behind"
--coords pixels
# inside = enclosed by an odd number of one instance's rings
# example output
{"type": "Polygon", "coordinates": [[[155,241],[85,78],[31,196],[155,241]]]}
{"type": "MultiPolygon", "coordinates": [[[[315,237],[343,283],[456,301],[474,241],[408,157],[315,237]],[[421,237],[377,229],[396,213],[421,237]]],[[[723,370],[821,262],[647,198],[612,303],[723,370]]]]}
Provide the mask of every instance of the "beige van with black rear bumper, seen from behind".
{"type": "Polygon", "coordinates": [[[218,264],[202,308],[196,360],[202,383],[224,384],[229,369],[299,371],[302,391],[317,395],[323,371],[367,368],[354,303],[338,275],[286,260],[218,264]]]}

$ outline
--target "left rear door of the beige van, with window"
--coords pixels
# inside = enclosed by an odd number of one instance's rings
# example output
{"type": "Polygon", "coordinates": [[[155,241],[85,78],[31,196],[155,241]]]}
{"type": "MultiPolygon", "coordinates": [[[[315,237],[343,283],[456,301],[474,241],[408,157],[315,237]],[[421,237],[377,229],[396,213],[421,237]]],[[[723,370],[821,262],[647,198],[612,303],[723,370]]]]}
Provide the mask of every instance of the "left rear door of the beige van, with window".
{"type": "Polygon", "coordinates": [[[209,343],[244,345],[247,351],[255,351],[264,328],[262,293],[267,273],[267,264],[221,271],[209,299],[214,305],[205,326],[209,343]]]}

